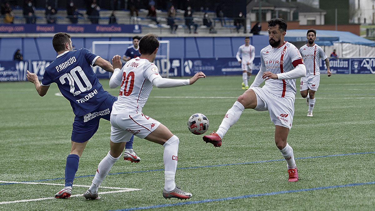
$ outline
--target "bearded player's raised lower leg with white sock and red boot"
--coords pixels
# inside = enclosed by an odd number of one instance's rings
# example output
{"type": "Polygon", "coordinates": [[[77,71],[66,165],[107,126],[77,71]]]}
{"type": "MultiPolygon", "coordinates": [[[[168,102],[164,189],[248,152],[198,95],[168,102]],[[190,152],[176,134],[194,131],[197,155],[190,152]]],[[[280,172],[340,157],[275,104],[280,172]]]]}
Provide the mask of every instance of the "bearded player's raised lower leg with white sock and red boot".
{"type": "Polygon", "coordinates": [[[212,143],[215,147],[220,147],[226,132],[228,132],[230,127],[236,124],[242,112],[245,109],[254,109],[255,107],[257,107],[257,95],[254,90],[248,89],[238,97],[237,101],[234,102],[233,106],[226,112],[217,132],[211,133],[208,136],[203,136],[203,140],[206,143],[212,143]]]}

